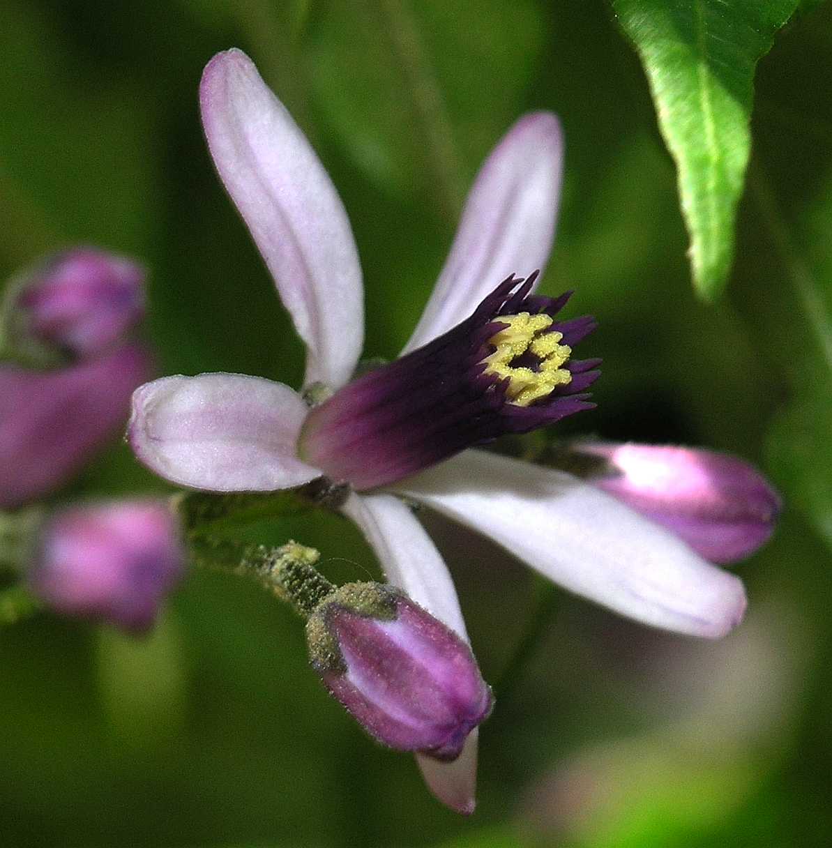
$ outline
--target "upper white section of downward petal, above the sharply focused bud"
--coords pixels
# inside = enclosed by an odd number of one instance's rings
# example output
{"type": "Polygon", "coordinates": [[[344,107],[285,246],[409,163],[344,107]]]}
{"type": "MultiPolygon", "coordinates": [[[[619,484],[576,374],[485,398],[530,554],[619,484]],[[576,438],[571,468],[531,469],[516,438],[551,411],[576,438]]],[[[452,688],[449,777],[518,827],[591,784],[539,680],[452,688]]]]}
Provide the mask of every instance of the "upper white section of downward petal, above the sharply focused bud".
{"type": "Polygon", "coordinates": [[[410,509],[390,494],[352,494],[342,510],[361,528],[390,583],[467,640],[448,566],[410,509]]]}

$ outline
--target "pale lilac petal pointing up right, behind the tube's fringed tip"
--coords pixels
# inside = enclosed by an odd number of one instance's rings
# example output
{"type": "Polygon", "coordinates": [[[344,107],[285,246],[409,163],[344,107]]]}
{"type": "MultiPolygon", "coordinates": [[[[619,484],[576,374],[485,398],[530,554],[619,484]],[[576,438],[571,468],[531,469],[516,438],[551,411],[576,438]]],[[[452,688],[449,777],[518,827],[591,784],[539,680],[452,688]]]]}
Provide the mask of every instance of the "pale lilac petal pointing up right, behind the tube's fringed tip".
{"type": "Polygon", "coordinates": [[[477,174],[450,254],[403,353],[471,315],[510,274],[544,270],[555,237],[563,140],[555,115],[524,115],[477,174]]]}

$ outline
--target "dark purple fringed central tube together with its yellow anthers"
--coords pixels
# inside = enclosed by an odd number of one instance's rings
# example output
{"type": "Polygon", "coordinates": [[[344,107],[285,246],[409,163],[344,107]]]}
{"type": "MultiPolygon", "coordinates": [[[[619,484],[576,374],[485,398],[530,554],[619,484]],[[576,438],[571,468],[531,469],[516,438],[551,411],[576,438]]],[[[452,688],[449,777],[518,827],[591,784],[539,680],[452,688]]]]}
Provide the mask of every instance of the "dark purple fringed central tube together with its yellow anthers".
{"type": "Polygon", "coordinates": [[[595,320],[557,321],[571,292],[533,294],[536,276],[512,274],[465,321],[311,409],[304,462],[362,492],[591,409],[585,390],[600,360],[575,360],[572,349],[595,320]]]}

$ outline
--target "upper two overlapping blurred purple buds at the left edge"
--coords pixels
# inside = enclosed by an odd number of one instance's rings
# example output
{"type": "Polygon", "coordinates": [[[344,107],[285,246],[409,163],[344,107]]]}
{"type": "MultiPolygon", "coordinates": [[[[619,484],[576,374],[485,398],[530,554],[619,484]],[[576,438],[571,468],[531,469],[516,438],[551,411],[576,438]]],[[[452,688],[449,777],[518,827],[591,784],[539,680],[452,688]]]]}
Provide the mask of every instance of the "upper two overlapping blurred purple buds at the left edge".
{"type": "Polygon", "coordinates": [[[148,349],[130,338],[143,313],[142,283],[138,265],[90,248],[9,283],[0,326],[0,508],[51,494],[124,426],[131,393],[153,371],[148,349]]]}

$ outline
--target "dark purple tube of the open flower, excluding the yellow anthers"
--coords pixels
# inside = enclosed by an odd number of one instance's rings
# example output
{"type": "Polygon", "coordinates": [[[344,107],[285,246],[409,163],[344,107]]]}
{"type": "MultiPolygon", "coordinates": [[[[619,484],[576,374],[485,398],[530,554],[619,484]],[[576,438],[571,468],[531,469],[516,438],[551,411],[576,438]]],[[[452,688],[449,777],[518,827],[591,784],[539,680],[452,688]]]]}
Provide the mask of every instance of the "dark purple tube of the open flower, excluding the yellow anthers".
{"type": "MultiPolygon", "coordinates": [[[[529,406],[506,398],[507,377],[486,373],[483,360],[494,350],[490,339],[505,326],[500,316],[527,311],[529,289],[529,280],[510,276],[466,321],[340,389],[310,412],[301,453],[333,479],[365,490],[505,433],[528,432],[592,409],[583,391],[598,372],[585,369],[597,360],[574,362],[572,382],[529,406]]],[[[566,300],[535,297],[550,314],[566,300]]]]}

